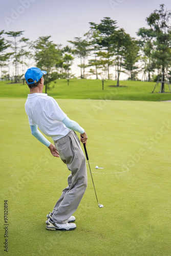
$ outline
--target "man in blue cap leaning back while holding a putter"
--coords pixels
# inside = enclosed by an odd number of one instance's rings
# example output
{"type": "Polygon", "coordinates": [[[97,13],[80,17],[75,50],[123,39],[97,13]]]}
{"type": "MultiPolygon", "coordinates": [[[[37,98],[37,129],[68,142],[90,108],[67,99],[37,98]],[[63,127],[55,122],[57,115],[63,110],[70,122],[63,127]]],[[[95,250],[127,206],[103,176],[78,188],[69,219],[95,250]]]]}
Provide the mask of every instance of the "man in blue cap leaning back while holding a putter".
{"type": "Polygon", "coordinates": [[[62,190],[62,195],[55,204],[52,213],[47,215],[46,228],[49,230],[73,230],[76,228],[75,217],[77,209],[87,188],[86,159],[81,150],[76,132],[80,133],[82,143],[87,143],[87,134],[73,120],[59,108],[57,102],[42,93],[44,77],[47,72],[38,68],[30,68],[25,74],[30,94],[25,104],[29,117],[31,133],[42,144],[46,145],[54,157],[59,157],[67,164],[71,174],[68,186],[62,190]],[[50,136],[54,144],[50,143],[38,130],[50,136]]]}

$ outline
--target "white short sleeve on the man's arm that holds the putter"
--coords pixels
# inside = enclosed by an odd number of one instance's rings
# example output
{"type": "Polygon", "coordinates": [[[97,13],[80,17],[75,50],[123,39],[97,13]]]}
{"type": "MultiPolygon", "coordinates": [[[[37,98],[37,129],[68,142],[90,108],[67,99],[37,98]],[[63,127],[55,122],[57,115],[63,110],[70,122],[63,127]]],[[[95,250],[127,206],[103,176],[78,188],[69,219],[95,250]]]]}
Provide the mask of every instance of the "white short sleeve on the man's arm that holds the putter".
{"type": "Polygon", "coordinates": [[[58,103],[54,98],[49,97],[47,102],[48,117],[53,120],[62,121],[67,115],[60,109],[58,103]]]}

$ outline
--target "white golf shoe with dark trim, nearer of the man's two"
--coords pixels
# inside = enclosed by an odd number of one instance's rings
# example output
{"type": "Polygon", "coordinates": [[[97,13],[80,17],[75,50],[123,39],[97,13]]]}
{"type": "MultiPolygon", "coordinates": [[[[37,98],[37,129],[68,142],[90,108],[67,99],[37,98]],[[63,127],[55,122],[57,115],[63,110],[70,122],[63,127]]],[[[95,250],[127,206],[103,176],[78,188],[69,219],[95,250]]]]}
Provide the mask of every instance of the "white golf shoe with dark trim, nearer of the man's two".
{"type": "Polygon", "coordinates": [[[46,229],[48,230],[61,230],[61,231],[67,231],[67,230],[74,230],[76,228],[75,223],[66,223],[66,224],[58,224],[52,221],[50,218],[46,221],[46,229]]]}

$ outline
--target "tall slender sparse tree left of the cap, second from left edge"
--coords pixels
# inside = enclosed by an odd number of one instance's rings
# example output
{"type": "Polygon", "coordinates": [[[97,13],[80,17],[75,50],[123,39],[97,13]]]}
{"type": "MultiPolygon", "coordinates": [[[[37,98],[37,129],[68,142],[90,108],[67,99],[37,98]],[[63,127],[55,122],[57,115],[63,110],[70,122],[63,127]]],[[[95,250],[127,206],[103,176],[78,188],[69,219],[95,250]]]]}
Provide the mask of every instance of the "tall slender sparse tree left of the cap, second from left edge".
{"type": "Polygon", "coordinates": [[[9,31],[9,32],[6,32],[6,34],[9,36],[9,37],[13,37],[14,40],[13,41],[9,41],[10,44],[11,44],[11,48],[13,50],[13,63],[14,63],[14,66],[15,66],[15,82],[17,82],[17,68],[18,68],[18,65],[19,63],[21,62],[21,57],[23,55],[27,55],[28,52],[24,50],[24,48],[26,47],[26,42],[29,40],[28,38],[25,38],[25,37],[22,37],[21,39],[17,40],[17,37],[19,36],[22,36],[23,35],[23,32],[24,31],[17,31],[17,32],[13,32],[13,31],[9,31]],[[24,43],[24,45],[22,47],[20,47],[19,45],[21,43],[24,43]]]}

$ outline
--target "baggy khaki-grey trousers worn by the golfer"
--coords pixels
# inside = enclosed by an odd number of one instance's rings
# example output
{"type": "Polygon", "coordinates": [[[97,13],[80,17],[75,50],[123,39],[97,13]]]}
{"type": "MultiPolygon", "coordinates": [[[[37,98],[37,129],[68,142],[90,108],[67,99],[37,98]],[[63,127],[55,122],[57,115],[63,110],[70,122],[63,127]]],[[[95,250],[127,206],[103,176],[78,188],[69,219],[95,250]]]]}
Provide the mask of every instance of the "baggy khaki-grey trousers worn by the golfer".
{"type": "Polygon", "coordinates": [[[74,131],[54,143],[61,160],[71,171],[68,186],[62,190],[62,195],[52,211],[52,220],[58,224],[65,224],[77,209],[87,188],[86,158],[74,131]]]}

